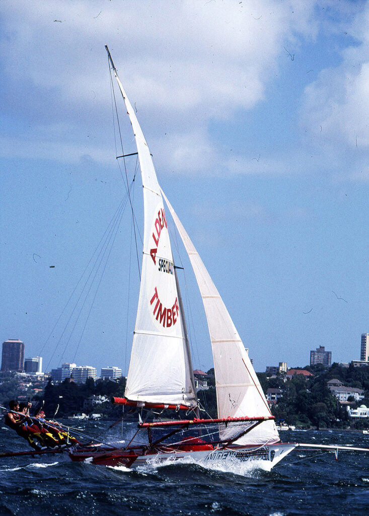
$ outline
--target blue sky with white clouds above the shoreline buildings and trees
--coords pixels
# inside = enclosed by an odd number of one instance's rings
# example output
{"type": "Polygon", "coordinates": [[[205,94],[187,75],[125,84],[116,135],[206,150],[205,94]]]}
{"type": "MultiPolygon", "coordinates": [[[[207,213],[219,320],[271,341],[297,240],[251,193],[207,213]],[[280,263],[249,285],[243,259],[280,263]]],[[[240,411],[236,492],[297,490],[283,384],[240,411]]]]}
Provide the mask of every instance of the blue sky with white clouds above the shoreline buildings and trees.
{"type": "MultiPolygon", "coordinates": [[[[128,209],[71,336],[63,312],[125,193],[108,44],[159,182],[256,370],[306,365],[320,345],[333,361],[360,358],[369,2],[3,1],[0,17],[3,341],[20,338],[49,368],[128,367],[138,288],[128,209]]],[[[140,196],[136,185],[138,224],[140,196]]],[[[194,366],[207,370],[192,302],[194,366]]]]}

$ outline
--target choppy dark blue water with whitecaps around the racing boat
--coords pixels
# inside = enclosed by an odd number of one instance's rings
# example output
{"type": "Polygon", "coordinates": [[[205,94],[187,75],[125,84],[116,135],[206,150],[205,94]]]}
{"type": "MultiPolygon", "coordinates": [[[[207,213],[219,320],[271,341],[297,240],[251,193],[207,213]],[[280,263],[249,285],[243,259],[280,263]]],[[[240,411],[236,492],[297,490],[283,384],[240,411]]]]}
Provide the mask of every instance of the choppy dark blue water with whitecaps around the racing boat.
{"type": "MultiPolygon", "coordinates": [[[[81,425],[104,435],[107,423],[81,425]]],[[[284,431],[284,441],[369,447],[369,436],[284,431]]],[[[27,449],[0,424],[0,452],[27,449]]],[[[369,514],[369,454],[293,451],[270,473],[220,464],[139,471],[73,463],[68,455],[0,458],[0,515],[292,516],[369,514]]]]}

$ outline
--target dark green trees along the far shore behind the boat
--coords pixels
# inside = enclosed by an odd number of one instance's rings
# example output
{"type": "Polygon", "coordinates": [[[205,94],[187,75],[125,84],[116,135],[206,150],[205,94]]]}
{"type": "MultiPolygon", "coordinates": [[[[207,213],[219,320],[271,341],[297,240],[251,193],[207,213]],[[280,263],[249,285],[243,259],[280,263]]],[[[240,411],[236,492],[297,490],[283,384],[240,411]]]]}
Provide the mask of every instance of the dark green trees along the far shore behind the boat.
{"type": "MultiPolygon", "coordinates": [[[[314,376],[305,379],[303,375],[296,375],[292,380],[284,381],[283,375],[267,378],[265,373],[257,373],[261,386],[266,393],[268,388],[281,390],[282,397],[277,404],[272,405],[272,414],[276,420],[283,420],[288,425],[295,425],[302,428],[369,428],[369,422],[349,421],[347,410],[339,400],[328,389],[327,381],[337,378],[344,385],[364,390],[365,398],[360,402],[349,399],[350,407],[356,408],[359,405],[369,405],[369,367],[342,367],[334,363],[330,368],[323,366],[306,366],[314,376]]],[[[216,392],[214,382],[214,369],[208,371],[208,389],[200,390],[197,393],[200,407],[200,417],[216,417],[216,392]]],[[[48,381],[43,392],[33,396],[33,406],[43,404],[48,417],[57,414],[58,417],[67,417],[85,412],[102,413],[105,417],[118,418],[122,415],[122,407],[113,406],[110,403],[112,396],[124,396],[125,379],[116,381],[87,379],[84,384],[76,384],[70,379],[54,384],[48,381]],[[107,396],[108,401],[94,406],[89,404],[91,396],[107,396]]],[[[0,385],[0,396],[5,398],[16,398],[16,380],[4,378],[0,385]]],[[[7,399],[7,401],[9,401],[7,399]]],[[[3,401],[6,404],[6,401],[3,401]]],[[[161,417],[170,417],[173,414],[162,413],[161,417]]]]}

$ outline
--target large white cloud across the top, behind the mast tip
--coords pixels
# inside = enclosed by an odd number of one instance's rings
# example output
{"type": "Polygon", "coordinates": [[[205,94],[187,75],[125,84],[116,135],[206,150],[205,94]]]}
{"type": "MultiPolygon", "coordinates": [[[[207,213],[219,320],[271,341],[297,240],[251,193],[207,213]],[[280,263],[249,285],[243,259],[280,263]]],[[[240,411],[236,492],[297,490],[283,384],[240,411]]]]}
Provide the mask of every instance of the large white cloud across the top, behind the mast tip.
{"type": "Polygon", "coordinates": [[[292,14],[289,2],[266,0],[17,2],[3,5],[2,54],[14,78],[60,87],[79,101],[83,82],[106,80],[104,41],[127,84],[150,104],[173,110],[205,102],[208,109],[215,98],[223,117],[261,98],[282,42],[293,27],[311,28],[312,7],[292,14]]]}

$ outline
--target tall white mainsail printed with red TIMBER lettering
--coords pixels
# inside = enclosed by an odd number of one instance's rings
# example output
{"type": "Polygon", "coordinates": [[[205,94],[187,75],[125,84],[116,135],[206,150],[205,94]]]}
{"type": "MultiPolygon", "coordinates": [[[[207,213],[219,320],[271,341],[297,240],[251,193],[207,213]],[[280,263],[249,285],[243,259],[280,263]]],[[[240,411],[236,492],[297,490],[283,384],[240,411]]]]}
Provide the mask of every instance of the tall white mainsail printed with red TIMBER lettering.
{"type": "Polygon", "coordinates": [[[141,127],[115,70],[114,74],[135,134],[145,218],[140,295],[125,395],[130,400],[195,407],[163,199],[141,127]]]}

